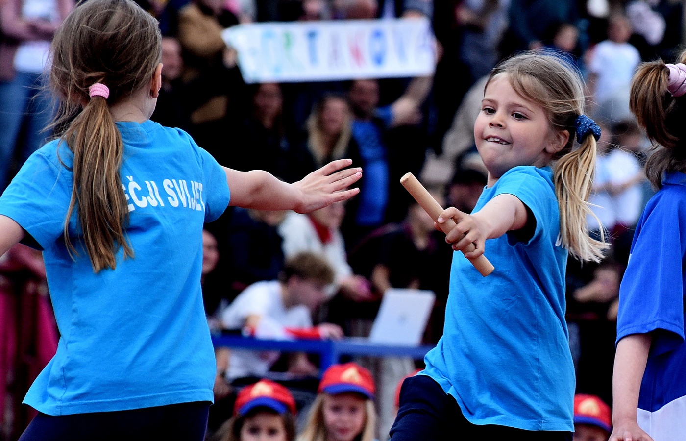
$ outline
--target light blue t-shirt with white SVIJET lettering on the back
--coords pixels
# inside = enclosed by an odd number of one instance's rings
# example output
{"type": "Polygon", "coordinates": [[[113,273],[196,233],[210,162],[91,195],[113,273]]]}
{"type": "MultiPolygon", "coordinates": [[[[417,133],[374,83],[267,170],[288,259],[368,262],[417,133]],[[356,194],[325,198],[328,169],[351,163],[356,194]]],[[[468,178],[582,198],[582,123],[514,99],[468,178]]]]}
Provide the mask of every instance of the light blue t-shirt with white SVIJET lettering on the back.
{"type": "Polygon", "coordinates": [[[121,182],[133,259],[95,274],[78,241],[75,213],[62,237],[73,154],[51,141],[0,198],[0,214],[43,249],[60,341],[24,403],[49,415],[212,401],[213,346],[202,307],[202,226],[229,201],[222,167],[178,129],[117,123],[121,182]]]}

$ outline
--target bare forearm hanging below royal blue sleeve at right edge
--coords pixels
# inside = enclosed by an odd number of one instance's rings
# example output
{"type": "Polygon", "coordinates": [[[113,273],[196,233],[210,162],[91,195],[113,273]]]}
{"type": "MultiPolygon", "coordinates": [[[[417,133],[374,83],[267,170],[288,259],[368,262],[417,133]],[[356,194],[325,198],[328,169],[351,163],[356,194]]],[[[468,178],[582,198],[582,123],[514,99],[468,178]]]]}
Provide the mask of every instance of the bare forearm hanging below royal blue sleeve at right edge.
{"type": "Polygon", "coordinates": [[[609,441],[653,441],[637,422],[639,391],[650,343],[650,334],[632,334],[617,344],[612,379],[613,431],[609,441]]]}

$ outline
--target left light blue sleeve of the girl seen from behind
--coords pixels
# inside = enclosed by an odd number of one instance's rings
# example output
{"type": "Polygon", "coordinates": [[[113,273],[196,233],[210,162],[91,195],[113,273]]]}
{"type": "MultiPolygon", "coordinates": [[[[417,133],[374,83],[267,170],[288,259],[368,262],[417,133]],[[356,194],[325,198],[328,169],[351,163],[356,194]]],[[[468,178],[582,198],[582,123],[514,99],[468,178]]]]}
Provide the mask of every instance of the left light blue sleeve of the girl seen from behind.
{"type": "MultiPolygon", "coordinates": [[[[73,187],[71,170],[59,162],[57,142],[29,156],[0,198],[0,214],[14,219],[42,250],[63,235],[73,187]]],[[[62,152],[71,163],[71,152],[62,152]]]]}

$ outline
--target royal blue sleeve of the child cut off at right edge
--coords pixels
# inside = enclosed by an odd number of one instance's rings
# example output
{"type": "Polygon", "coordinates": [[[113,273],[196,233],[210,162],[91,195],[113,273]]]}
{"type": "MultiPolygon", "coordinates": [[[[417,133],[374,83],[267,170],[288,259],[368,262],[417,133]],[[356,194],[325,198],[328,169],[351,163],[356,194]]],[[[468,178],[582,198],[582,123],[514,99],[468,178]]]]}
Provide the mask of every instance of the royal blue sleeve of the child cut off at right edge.
{"type": "Polygon", "coordinates": [[[654,333],[651,351],[665,353],[684,341],[683,257],[686,200],[658,193],[639,219],[619,287],[617,342],[654,333]]]}

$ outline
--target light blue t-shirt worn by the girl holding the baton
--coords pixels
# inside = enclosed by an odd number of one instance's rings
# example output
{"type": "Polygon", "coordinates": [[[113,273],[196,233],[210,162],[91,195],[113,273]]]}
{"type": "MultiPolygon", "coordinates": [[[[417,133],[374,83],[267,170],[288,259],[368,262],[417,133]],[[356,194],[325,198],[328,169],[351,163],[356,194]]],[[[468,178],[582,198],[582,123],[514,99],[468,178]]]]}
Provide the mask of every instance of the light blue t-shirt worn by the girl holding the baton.
{"type": "Polygon", "coordinates": [[[453,254],[445,330],[423,374],[456,398],[467,420],[535,431],[573,431],[574,368],[565,324],[567,250],[549,168],[514,167],[484,192],[517,196],[536,219],[528,242],[486,241],[483,277],[453,254]]]}

